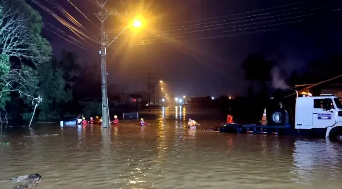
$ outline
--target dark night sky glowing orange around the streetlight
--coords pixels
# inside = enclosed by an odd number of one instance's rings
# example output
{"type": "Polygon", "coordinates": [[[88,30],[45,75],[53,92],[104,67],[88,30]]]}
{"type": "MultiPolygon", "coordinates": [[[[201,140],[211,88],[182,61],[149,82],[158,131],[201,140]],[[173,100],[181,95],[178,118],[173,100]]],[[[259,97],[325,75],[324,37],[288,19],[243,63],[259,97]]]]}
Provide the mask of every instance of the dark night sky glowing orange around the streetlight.
{"type": "MultiPolygon", "coordinates": [[[[58,57],[63,49],[75,51],[81,65],[97,65],[97,73],[100,74],[100,46],[86,40],[84,43],[87,50],[84,50],[58,37],[52,32],[54,29],[49,23],[82,41],[52,15],[29,1],[43,16],[46,26],[43,34],[50,41],[54,55],[58,57]]],[[[96,6],[95,0],[70,2],[97,26],[89,22],[68,0],[36,1],[62,16],[56,6],[49,3],[58,2],[88,30],[82,30],[83,32],[95,40],[100,39],[100,21],[93,14],[100,9],[96,6]]],[[[107,50],[108,82],[120,86],[117,87],[120,89],[110,87],[109,90],[146,91],[147,75],[152,73],[155,78],[163,79],[168,91],[176,95],[246,95],[249,82],[244,80],[241,64],[248,54],[263,54],[268,59],[277,61],[289,74],[294,69],[303,71],[311,60],[341,53],[342,0],[309,0],[304,4],[289,5],[298,2],[304,1],[109,0],[106,6],[108,10],[129,10],[125,17],[112,16],[107,19],[106,27],[110,30],[110,41],[126,26],[124,20],[133,17],[135,11],[143,12],[148,23],[139,33],[126,30],[115,41],[117,43],[107,50]],[[288,6],[260,11],[283,5],[288,6]],[[328,9],[317,9],[319,7],[328,9]],[[255,12],[246,13],[249,11],[255,12]],[[257,18],[258,14],[264,14],[258,17],[267,18],[247,21],[257,18]],[[220,18],[203,20],[212,17],[220,18]],[[272,21],[277,19],[280,20],[272,21]],[[200,21],[190,22],[196,20],[200,21]],[[209,23],[220,20],[221,22],[209,23]],[[220,23],[228,24],[212,26],[220,23]],[[274,25],[262,27],[272,24],[274,25]],[[183,25],[186,27],[177,27],[183,25]],[[208,27],[203,27],[205,25],[208,27]],[[227,28],[212,29],[217,27],[227,28]],[[250,27],[255,28],[246,29],[250,27]],[[180,28],[188,29],[177,30],[180,28]],[[163,35],[169,30],[175,31],[171,31],[172,33],[167,36],[156,36],[163,35]],[[226,37],[219,37],[222,35],[226,37]],[[142,40],[150,41],[141,43],[142,40]]],[[[62,18],[70,22],[66,17],[62,18]]]]}

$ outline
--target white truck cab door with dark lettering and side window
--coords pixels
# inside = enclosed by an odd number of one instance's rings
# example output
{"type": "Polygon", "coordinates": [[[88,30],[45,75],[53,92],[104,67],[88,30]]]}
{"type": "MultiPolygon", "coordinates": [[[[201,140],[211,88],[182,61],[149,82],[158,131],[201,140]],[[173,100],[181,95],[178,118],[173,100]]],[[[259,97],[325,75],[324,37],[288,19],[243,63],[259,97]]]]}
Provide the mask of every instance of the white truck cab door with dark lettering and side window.
{"type": "Polygon", "coordinates": [[[331,99],[314,99],[313,127],[325,128],[335,124],[336,108],[331,99]],[[329,107],[328,109],[326,107],[329,107]]]}

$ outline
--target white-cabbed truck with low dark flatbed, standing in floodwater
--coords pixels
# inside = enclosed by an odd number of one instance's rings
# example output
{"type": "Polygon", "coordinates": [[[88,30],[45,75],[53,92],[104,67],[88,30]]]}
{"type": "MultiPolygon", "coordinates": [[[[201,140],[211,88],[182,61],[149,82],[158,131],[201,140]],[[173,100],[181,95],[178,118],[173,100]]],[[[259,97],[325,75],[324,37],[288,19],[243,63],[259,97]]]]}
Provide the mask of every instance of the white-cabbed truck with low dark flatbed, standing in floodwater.
{"type": "Polygon", "coordinates": [[[342,104],[332,94],[298,97],[295,108],[279,107],[269,112],[268,124],[226,124],[220,132],[309,135],[342,140],[342,104]],[[294,109],[294,110],[293,110],[294,109]]]}

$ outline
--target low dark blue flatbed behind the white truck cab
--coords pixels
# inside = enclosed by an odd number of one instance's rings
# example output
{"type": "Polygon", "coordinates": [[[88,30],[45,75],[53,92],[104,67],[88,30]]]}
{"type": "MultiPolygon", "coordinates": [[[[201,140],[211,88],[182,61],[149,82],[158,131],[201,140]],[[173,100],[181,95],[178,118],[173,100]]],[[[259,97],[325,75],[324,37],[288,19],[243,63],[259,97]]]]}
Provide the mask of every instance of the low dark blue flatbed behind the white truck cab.
{"type": "Polygon", "coordinates": [[[263,135],[310,135],[324,136],[326,129],[293,129],[291,125],[260,125],[260,124],[223,124],[220,132],[224,133],[248,133],[263,135]]]}

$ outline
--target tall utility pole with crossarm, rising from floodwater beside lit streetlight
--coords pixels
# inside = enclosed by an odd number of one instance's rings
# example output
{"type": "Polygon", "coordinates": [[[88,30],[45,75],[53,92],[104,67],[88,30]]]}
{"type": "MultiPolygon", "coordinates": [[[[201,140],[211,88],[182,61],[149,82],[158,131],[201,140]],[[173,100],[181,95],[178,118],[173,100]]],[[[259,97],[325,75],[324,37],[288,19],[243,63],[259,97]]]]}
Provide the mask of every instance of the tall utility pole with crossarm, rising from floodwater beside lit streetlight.
{"type": "Polygon", "coordinates": [[[108,98],[107,98],[107,68],[106,68],[106,59],[107,59],[107,47],[108,47],[108,30],[105,29],[104,21],[108,16],[112,15],[112,13],[108,12],[104,6],[107,3],[107,0],[104,2],[99,2],[100,0],[96,0],[97,4],[100,5],[101,11],[95,13],[96,17],[101,21],[101,93],[102,93],[102,127],[109,127],[109,109],[108,109],[108,98]]]}

